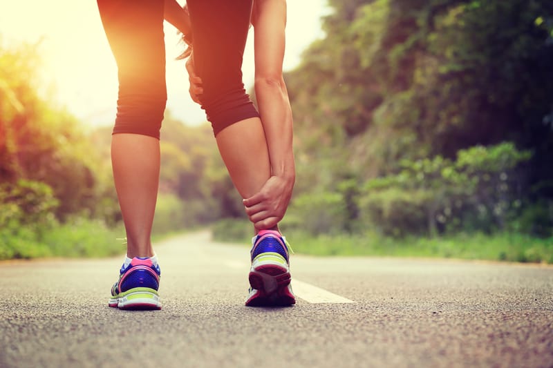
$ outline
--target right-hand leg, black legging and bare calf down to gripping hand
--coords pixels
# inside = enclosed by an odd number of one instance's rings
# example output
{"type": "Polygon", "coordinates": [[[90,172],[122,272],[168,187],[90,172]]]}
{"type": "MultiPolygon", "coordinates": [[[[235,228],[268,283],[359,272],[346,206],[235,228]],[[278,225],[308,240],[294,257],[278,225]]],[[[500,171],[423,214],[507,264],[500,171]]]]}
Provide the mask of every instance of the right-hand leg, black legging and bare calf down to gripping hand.
{"type": "Polygon", "coordinates": [[[265,132],[242,82],[252,0],[188,0],[187,4],[195,71],[203,82],[202,107],[232,182],[247,198],[271,175],[265,132]]]}

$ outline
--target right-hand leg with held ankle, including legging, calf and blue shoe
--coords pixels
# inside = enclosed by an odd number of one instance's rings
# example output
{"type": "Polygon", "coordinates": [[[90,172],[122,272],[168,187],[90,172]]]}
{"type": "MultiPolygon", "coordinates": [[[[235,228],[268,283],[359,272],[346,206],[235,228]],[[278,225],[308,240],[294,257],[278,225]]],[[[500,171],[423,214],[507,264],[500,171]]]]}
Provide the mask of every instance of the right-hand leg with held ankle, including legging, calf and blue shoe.
{"type": "MultiPolygon", "coordinates": [[[[247,198],[256,194],[271,175],[265,131],[242,83],[242,55],[252,0],[188,0],[187,4],[194,36],[194,66],[203,84],[200,100],[234,186],[247,198]]],[[[274,227],[256,229],[250,251],[248,306],[288,306],[296,302],[290,287],[288,244],[274,227]]]]}

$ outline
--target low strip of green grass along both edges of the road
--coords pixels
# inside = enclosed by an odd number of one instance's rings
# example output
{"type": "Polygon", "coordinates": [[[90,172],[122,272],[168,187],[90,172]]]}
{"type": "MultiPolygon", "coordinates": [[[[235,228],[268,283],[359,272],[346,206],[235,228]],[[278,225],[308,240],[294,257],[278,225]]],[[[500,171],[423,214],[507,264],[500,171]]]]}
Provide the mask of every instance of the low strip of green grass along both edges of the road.
{"type": "MultiPolygon", "coordinates": [[[[166,229],[167,230],[167,229],[166,229]]],[[[185,231],[184,229],[182,231],[185,231]]],[[[182,233],[182,231],[178,231],[182,233]]],[[[225,220],[212,227],[214,240],[249,246],[252,226],[247,220],[225,220]]],[[[154,241],[176,233],[158,232],[154,241]]],[[[308,255],[372,255],[380,257],[458,258],[553,264],[553,238],[519,233],[460,233],[439,238],[393,239],[375,233],[317,235],[283,229],[295,253],[308,255]]],[[[125,251],[124,228],[111,229],[97,220],[75,219],[44,230],[0,229],[0,260],[30,258],[101,258],[125,251]]]]}

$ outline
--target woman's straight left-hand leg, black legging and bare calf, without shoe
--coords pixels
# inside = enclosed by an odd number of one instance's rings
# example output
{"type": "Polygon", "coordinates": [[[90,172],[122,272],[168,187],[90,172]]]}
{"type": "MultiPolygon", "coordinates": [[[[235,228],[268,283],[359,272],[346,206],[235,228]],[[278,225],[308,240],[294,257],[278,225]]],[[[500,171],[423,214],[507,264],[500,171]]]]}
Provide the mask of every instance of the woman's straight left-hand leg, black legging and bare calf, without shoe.
{"type": "Polygon", "coordinates": [[[167,100],[164,1],[97,3],[118,64],[118,115],[111,159],[126,229],[127,256],[151,257],[160,172],[159,134],[167,100]]]}

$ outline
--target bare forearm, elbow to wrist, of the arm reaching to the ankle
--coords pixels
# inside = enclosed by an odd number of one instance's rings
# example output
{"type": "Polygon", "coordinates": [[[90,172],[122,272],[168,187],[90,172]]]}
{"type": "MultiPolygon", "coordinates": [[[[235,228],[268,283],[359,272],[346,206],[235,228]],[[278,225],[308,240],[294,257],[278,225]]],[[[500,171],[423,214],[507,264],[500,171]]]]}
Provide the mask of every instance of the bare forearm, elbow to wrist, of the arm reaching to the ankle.
{"type": "Polygon", "coordinates": [[[256,77],[255,91],[265,139],[269,149],[272,175],[295,180],[293,121],[288,91],[282,77],[256,77]]]}

